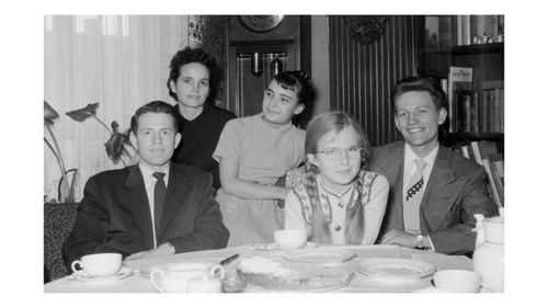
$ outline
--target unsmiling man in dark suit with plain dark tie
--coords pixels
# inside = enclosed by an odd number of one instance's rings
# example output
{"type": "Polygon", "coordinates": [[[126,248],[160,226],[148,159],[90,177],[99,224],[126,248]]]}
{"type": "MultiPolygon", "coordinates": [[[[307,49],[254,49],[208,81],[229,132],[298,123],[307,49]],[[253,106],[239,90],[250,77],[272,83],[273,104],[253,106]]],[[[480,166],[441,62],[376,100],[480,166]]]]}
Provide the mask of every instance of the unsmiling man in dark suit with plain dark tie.
{"type": "Polygon", "coordinates": [[[136,166],[88,181],[75,228],[62,247],[68,267],[90,253],[124,258],[225,248],[229,232],[214,197],[212,175],[170,163],[181,141],[173,107],[155,101],[132,117],[136,166]]]}

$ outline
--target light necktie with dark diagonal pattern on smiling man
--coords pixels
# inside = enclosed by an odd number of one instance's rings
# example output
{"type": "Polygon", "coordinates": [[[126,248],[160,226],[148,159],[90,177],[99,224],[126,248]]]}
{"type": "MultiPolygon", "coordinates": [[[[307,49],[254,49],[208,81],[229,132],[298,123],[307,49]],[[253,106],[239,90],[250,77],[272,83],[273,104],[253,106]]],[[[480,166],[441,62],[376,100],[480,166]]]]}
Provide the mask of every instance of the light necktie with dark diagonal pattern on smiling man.
{"type": "Polygon", "coordinates": [[[414,160],[414,163],[416,164],[416,171],[409,179],[408,185],[406,185],[408,189],[403,198],[403,226],[406,232],[420,233],[421,220],[419,208],[424,193],[424,178],[422,172],[426,167],[426,162],[419,158],[414,160]]]}

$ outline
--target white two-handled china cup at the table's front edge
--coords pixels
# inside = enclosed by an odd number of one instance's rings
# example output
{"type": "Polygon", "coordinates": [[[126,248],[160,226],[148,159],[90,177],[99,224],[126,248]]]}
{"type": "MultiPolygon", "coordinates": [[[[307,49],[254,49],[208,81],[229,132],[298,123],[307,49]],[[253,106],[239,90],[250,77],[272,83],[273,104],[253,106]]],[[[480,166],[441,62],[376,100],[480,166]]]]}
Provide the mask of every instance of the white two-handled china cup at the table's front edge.
{"type": "Polygon", "coordinates": [[[161,293],[220,292],[224,276],[222,266],[206,262],[179,263],[150,272],[152,285],[161,293]]]}

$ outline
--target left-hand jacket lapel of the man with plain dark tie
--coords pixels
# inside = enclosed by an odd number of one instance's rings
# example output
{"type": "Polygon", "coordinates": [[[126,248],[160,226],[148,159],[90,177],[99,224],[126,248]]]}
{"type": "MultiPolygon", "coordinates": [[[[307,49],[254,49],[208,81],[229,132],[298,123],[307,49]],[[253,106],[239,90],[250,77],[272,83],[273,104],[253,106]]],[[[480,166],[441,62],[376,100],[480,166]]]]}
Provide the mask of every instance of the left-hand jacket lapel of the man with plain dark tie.
{"type": "Polygon", "coordinates": [[[150,205],[148,204],[145,181],[142,180],[142,174],[137,164],[129,167],[128,170],[129,174],[127,175],[125,187],[130,205],[129,208],[135,216],[137,225],[141,229],[147,247],[152,249],[155,247],[152,218],[150,215],[150,205]]]}

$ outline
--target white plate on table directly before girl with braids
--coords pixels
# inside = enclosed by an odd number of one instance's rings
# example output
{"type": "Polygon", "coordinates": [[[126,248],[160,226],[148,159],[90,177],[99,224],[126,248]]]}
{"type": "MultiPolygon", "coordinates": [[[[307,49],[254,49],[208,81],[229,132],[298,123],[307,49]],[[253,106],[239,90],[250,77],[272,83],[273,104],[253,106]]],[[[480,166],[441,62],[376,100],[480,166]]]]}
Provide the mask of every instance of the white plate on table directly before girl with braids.
{"type": "Polygon", "coordinates": [[[284,253],[284,259],[292,262],[304,263],[342,263],[356,256],[351,250],[330,249],[330,248],[312,248],[287,251],[284,253]]]}

